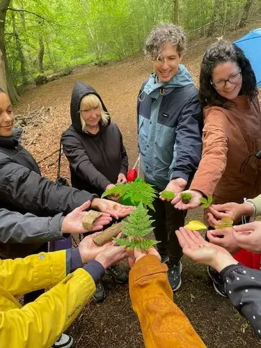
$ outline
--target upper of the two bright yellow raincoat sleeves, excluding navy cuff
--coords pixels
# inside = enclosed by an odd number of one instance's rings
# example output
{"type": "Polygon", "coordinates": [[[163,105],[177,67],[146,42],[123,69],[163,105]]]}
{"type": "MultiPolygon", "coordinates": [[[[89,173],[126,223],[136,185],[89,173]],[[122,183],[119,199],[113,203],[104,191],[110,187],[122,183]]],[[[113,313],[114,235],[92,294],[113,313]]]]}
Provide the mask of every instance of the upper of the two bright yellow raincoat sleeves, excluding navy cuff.
{"type": "Polygon", "coordinates": [[[0,285],[13,296],[56,285],[66,276],[66,251],[0,260],[0,285]]]}

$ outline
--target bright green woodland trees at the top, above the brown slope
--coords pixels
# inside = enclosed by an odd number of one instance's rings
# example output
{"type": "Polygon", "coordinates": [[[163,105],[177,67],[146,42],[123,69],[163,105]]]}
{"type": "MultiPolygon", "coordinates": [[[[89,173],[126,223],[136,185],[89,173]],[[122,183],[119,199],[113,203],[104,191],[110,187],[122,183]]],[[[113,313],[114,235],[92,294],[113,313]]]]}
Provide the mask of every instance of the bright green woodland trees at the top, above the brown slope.
{"type": "Polygon", "coordinates": [[[260,0],[1,0],[0,86],[18,102],[19,86],[141,51],[158,22],[180,24],[193,40],[242,28],[260,12],[260,0]]]}

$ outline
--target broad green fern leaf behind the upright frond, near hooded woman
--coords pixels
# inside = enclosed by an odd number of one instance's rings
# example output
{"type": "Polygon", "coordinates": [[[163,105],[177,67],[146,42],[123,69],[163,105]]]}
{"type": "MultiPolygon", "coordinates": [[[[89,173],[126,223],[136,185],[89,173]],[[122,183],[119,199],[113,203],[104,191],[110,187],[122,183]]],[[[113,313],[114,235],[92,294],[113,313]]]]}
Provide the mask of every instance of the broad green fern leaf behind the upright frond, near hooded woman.
{"type": "Polygon", "coordinates": [[[137,178],[134,182],[118,184],[116,187],[104,191],[102,198],[106,196],[120,196],[122,204],[137,207],[142,203],[154,210],[152,202],[157,197],[157,191],[153,189],[152,185],[147,184],[141,178],[137,178]]]}

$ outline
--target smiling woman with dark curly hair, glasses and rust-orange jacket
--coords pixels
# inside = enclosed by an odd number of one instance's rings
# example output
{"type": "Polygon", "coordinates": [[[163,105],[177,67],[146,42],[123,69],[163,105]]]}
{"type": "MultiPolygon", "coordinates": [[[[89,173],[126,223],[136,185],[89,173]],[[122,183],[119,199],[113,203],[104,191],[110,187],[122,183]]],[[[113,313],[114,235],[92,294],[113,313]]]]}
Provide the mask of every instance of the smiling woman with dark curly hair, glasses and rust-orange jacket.
{"type": "MultiPolygon", "coordinates": [[[[203,157],[187,191],[192,194],[189,203],[183,203],[180,194],[172,203],[189,209],[209,195],[215,204],[254,198],[261,191],[261,161],[254,156],[261,149],[261,112],[255,74],[242,49],[224,40],[207,49],[199,95],[204,108],[203,157]]],[[[237,260],[244,263],[242,254],[237,260]]],[[[214,286],[219,290],[216,278],[214,286]]]]}

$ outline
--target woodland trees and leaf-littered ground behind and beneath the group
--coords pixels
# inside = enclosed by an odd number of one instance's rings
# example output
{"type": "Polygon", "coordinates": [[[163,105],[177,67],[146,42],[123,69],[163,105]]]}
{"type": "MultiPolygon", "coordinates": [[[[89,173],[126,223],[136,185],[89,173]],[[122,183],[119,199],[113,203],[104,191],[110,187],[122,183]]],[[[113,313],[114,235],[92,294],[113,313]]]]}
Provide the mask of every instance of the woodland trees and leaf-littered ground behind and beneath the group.
{"type": "MultiPolygon", "coordinates": [[[[261,0],[0,0],[0,87],[8,86],[17,103],[15,126],[24,128],[22,143],[42,175],[56,179],[60,136],[70,125],[76,81],[100,93],[134,164],[136,97],[152,69],[144,60],[143,42],[158,22],[186,29],[183,63],[198,84],[202,56],[217,37],[237,40],[261,27],[261,0]],[[35,88],[35,82],[41,85],[35,88]]],[[[70,181],[64,156],[61,174],[70,181]]],[[[202,208],[191,209],[187,220],[202,215],[202,208]]],[[[207,347],[261,347],[246,320],[216,294],[206,267],[186,257],[182,263],[182,287],[174,301],[207,347]]],[[[121,267],[129,271],[127,262],[121,267]]],[[[116,285],[109,276],[103,281],[105,301],[91,300],[68,328],[74,348],[143,348],[128,284],[116,285]]]]}

